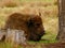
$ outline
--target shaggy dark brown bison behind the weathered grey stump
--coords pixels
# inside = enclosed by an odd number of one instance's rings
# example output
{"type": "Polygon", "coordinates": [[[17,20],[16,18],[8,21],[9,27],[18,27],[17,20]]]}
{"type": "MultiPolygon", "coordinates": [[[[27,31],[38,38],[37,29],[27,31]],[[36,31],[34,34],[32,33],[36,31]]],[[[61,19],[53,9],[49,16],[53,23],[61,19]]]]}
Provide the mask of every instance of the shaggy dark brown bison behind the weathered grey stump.
{"type": "Polygon", "coordinates": [[[9,16],[5,28],[25,31],[26,38],[29,41],[40,41],[44,34],[41,17],[38,15],[14,13],[9,16]]]}

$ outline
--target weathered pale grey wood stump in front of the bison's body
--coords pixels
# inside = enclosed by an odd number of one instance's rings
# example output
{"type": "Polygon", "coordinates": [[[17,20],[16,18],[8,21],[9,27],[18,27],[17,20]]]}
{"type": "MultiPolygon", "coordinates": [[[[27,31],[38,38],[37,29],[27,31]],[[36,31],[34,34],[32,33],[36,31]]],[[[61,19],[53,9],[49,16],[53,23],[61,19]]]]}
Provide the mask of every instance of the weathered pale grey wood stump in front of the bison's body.
{"type": "Polygon", "coordinates": [[[5,34],[5,41],[9,43],[24,44],[26,45],[26,37],[23,30],[8,29],[5,34]]]}

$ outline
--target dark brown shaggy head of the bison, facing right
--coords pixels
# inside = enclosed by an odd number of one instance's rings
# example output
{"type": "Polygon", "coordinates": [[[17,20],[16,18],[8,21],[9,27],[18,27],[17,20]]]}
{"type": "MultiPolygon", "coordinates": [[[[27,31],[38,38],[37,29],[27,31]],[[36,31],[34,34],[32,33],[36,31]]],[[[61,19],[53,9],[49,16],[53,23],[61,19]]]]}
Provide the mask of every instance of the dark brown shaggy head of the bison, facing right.
{"type": "Polygon", "coordinates": [[[41,36],[44,34],[41,17],[31,17],[27,25],[29,30],[29,41],[40,41],[41,36]]]}

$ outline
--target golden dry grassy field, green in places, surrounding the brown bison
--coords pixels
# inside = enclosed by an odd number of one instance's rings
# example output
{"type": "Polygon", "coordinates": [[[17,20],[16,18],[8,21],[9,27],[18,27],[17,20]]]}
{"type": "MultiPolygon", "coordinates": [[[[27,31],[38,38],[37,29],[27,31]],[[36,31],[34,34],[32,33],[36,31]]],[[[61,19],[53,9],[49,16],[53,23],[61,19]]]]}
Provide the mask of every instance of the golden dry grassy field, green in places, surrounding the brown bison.
{"type": "MultiPolygon", "coordinates": [[[[4,27],[8,16],[12,13],[25,13],[25,14],[36,14],[41,12],[41,18],[43,21],[46,35],[42,36],[40,42],[29,42],[29,44],[38,44],[32,48],[42,48],[40,45],[43,43],[55,43],[55,37],[58,32],[58,10],[56,0],[20,0],[20,1],[0,1],[0,28],[4,27]],[[10,2],[10,3],[9,3],[10,2]],[[18,3],[20,2],[20,3],[18,3]],[[9,5],[8,5],[9,4],[9,5]]],[[[12,48],[10,44],[1,43],[0,48],[12,48]]],[[[20,47],[18,47],[20,48],[20,47]]],[[[29,48],[29,47],[27,47],[29,48]]]]}

